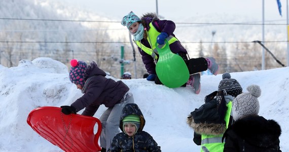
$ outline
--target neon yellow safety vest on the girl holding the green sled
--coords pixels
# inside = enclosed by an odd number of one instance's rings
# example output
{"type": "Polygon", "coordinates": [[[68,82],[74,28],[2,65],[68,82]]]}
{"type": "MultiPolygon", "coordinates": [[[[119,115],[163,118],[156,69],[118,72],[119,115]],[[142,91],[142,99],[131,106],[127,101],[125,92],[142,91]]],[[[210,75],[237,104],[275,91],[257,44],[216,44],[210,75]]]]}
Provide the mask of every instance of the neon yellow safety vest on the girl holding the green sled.
{"type": "MultiPolygon", "coordinates": [[[[156,53],[158,53],[157,49],[156,49],[156,43],[157,43],[157,37],[160,34],[160,32],[158,32],[158,30],[155,28],[155,26],[153,25],[153,23],[150,23],[150,30],[147,31],[148,33],[148,42],[151,46],[151,48],[148,48],[146,46],[144,46],[143,44],[140,43],[140,41],[135,41],[136,45],[143,50],[144,52],[146,52],[147,54],[151,55],[154,59],[157,59],[158,56],[156,55],[156,53]]],[[[178,41],[174,36],[169,35],[166,40],[168,41],[169,45],[178,41]]],[[[164,45],[159,45],[159,48],[162,48],[164,45]]]]}

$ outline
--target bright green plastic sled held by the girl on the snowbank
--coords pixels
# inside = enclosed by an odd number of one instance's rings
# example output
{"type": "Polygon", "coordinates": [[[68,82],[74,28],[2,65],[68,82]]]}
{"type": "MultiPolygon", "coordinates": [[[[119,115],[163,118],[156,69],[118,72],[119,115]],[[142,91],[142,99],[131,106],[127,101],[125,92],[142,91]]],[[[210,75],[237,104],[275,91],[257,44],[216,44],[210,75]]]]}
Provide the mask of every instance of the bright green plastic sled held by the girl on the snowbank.
{"type": "Polygon", "coordinates": [[[189,80],[189,69],[182,57],[170,51],[168,41],[165,45],[156,43],[159,60],[156,64],[156,72],[163,85],[169,88],[183,86],[189,80]]]}

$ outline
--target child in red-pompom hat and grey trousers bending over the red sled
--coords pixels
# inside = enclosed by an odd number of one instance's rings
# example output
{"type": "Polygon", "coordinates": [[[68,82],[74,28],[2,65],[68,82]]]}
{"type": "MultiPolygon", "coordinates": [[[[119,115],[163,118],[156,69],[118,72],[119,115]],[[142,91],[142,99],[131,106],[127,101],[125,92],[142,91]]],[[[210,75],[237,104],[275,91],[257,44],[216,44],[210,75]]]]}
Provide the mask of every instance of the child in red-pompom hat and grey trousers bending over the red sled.
{"type": "Polygon", "coordinates": [[[119,133],[122,109],[127,103],[134,103],[133,96],[122,81],[105,78],[106,73],[94,61],[87,65],[84,61],[73,59],[70,64],[69,79],[81,90],[83,96],[70,106],[61,106],[61,111],[69,115],[85,108],[82,115],[93,117],[98,107],[104,104],[107,109],[99,118],[102,128],[100,146],[101,151],[106,151],[119,133]]]}

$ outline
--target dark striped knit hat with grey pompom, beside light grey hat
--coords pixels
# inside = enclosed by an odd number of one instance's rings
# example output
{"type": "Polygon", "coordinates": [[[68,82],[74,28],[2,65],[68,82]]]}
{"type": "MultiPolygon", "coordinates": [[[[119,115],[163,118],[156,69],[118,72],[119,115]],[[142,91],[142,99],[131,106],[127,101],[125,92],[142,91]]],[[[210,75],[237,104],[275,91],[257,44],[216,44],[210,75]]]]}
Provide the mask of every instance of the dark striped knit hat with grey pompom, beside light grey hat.
{"type": "Polygon", "coordinates": [[[231,79],[231,74],[229,72],[225,72],[222,75],[223,80],[220,81],[218,90],[226,90],[227,94],[236,97],[241,94],[243,89],[239,82],[236,79],[231,79]]]}

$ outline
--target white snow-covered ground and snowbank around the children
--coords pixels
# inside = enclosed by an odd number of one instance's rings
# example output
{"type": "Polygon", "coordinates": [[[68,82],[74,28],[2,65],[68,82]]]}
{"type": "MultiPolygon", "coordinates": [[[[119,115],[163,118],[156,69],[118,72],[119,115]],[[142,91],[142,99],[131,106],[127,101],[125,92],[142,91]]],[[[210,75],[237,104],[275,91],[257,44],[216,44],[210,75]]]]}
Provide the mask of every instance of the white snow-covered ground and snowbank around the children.
{"type": "MultiPolygon", "coordinates": [[[[82,96],[70,83],[68,68],[50,58],[21,60],[11,68],[0,65],[0,151],[62,151],[34,132],[26,119],[34,108],[70,105],[82,96]]],[[[281,150],[289,151],[289,67],[235,72],[231,76],[241,84],[243,92],[252,84],[261,87],[259,114],[280,124],[281,150]]],[[[162,151],[199,151],[186,118],[203,104],[205,95],[218,89],[221,80],[222,74],[202,75],[198,95],[190,87],[170,89],[146,79],[121,81],[129,86],[146,119],[143,130],[154,137],[162,151]]],[[[99,118],[104,110],[100,106],[94,117],[99,118]]]]}

